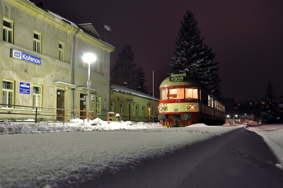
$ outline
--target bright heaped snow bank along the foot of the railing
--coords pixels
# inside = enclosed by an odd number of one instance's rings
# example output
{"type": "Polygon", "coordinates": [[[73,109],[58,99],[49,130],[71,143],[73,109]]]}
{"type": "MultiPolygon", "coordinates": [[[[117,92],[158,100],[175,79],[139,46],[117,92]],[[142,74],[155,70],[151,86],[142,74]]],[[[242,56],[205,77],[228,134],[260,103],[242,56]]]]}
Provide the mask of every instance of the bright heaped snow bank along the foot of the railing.
{"type": "Polygon", "coordinates": [[[33,119],[27,119],[29,123],[25,122],[8,122],[5,120],[0,123],[0,134],[28,134],[28,133],[54,133],[54,132],[71,132],[71,131],[108,131],[121,129],[154,129],[163,128],[160,123],[146,123],[146,122],[108,122],[99,118],[89,120],[87,119],[71,119],[70,122],[49,123],[39,122],[30,123],[33,119]]]}

